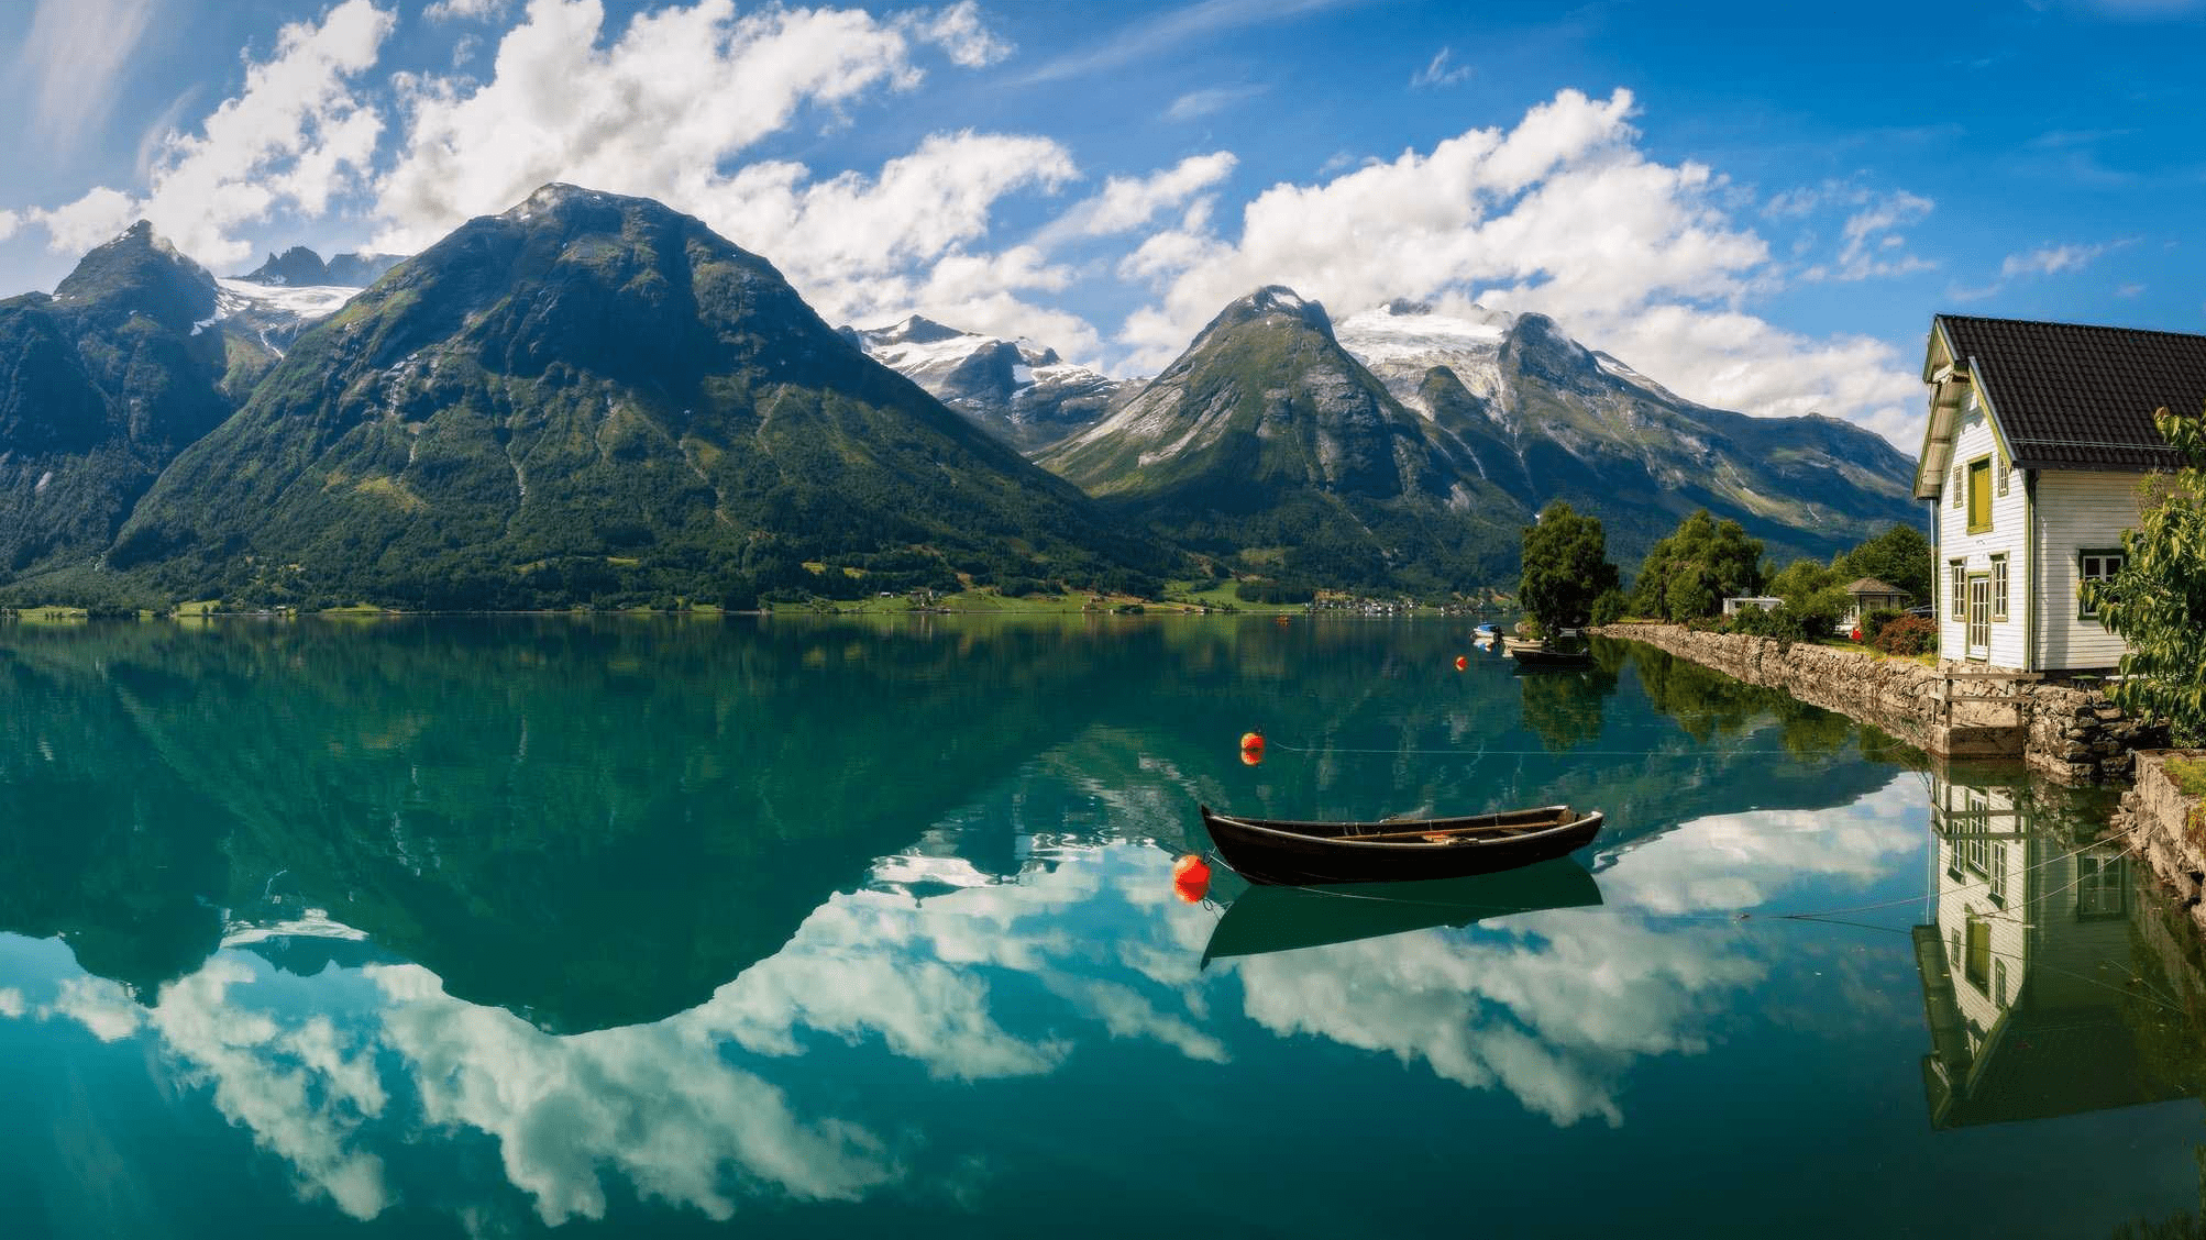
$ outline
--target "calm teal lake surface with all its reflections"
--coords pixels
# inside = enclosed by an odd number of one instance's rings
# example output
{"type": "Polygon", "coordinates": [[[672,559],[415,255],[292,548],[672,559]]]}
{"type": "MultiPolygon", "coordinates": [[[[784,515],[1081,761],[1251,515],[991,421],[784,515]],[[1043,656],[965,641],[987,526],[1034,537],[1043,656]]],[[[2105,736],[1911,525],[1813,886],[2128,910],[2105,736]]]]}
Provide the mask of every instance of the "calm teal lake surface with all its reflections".
{"type": "Polygon", "coordinates": [[[0,1236],[2197,1236],[2109,812],[1467,622],[7,624],[0,1236]]]}

